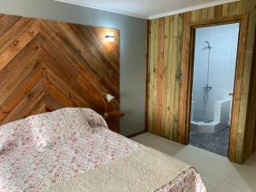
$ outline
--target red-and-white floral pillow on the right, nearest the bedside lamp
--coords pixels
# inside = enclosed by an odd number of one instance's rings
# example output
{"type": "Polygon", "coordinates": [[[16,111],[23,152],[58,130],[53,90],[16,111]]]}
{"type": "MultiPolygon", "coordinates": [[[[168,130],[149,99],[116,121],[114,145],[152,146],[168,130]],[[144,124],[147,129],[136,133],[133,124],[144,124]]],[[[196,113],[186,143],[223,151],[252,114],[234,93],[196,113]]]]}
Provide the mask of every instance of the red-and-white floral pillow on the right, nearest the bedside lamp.
{"type": "Polygon", "coordinates": [[[27,118],[38,150],[53,148],[91,134],[98,126],[108,126],[105,120],[88,108],[62,108],[27,118]]]}

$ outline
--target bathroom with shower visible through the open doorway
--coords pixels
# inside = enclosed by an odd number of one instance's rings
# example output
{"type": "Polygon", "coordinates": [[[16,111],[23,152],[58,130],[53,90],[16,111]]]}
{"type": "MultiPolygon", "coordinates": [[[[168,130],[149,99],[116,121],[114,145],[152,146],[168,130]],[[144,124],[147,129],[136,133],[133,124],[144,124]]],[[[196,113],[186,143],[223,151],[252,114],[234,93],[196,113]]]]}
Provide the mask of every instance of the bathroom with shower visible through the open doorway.
{"type": "Polygon", "coordinates": [[[195,29],[189,143],[228,155],[239,23],[195,29]]]}

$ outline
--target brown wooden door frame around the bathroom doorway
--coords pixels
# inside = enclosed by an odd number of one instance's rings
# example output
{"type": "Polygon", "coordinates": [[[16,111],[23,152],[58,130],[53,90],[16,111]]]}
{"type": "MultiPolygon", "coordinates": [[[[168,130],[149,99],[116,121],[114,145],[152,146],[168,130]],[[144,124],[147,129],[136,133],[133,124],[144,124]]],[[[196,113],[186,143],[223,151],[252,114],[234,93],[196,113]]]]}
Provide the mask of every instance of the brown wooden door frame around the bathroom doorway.
{"type": "Polygon", "coordinates": [[[238,51],[236,58],[236,77],[234,87],[234,97],[232,103],[232,115],[230,125],[230,148],[229,158],[234,161],[236,156],[236,136],[238,129],[239,108],[241,102],[241,79],[244,66],[244,55],[247,37],[248,15],[232,15],[214,20],[202,20],[190,22],[190,15],[184,15],[183,21],[183,50],[181,61],[181,79],[179,94],[179,113],[178,113],[178,143],[189,144],[190,115],[192,101],[192,84],[194,70],[194,45],[195,28],[204,26],[218,26],[231,23],[240,24],[238,51]]]}

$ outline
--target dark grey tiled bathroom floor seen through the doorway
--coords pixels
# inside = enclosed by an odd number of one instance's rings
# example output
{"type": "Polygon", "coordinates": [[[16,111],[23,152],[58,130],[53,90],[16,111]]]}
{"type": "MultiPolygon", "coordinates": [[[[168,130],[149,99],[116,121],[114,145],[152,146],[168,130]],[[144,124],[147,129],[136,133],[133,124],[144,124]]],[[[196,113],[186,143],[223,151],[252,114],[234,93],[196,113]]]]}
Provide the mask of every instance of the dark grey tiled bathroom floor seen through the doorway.
{"type": "Polygon", "coordinates": [[[190,131],[190,145],[215,154],[228,155],[230,127],[216,133],[190,131]]]}

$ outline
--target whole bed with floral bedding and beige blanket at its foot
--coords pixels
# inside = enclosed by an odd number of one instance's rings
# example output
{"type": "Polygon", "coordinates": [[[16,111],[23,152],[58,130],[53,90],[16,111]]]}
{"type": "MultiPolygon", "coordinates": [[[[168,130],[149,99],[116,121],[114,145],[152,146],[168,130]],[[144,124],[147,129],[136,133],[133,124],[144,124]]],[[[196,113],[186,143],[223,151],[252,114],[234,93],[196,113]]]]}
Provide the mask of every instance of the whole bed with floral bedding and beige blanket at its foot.
{"type": "Polygon", "coordinates": [[[0,191],[206,192],[194,167],[108,130],[89,108],[0,128],[0,191]]]}

